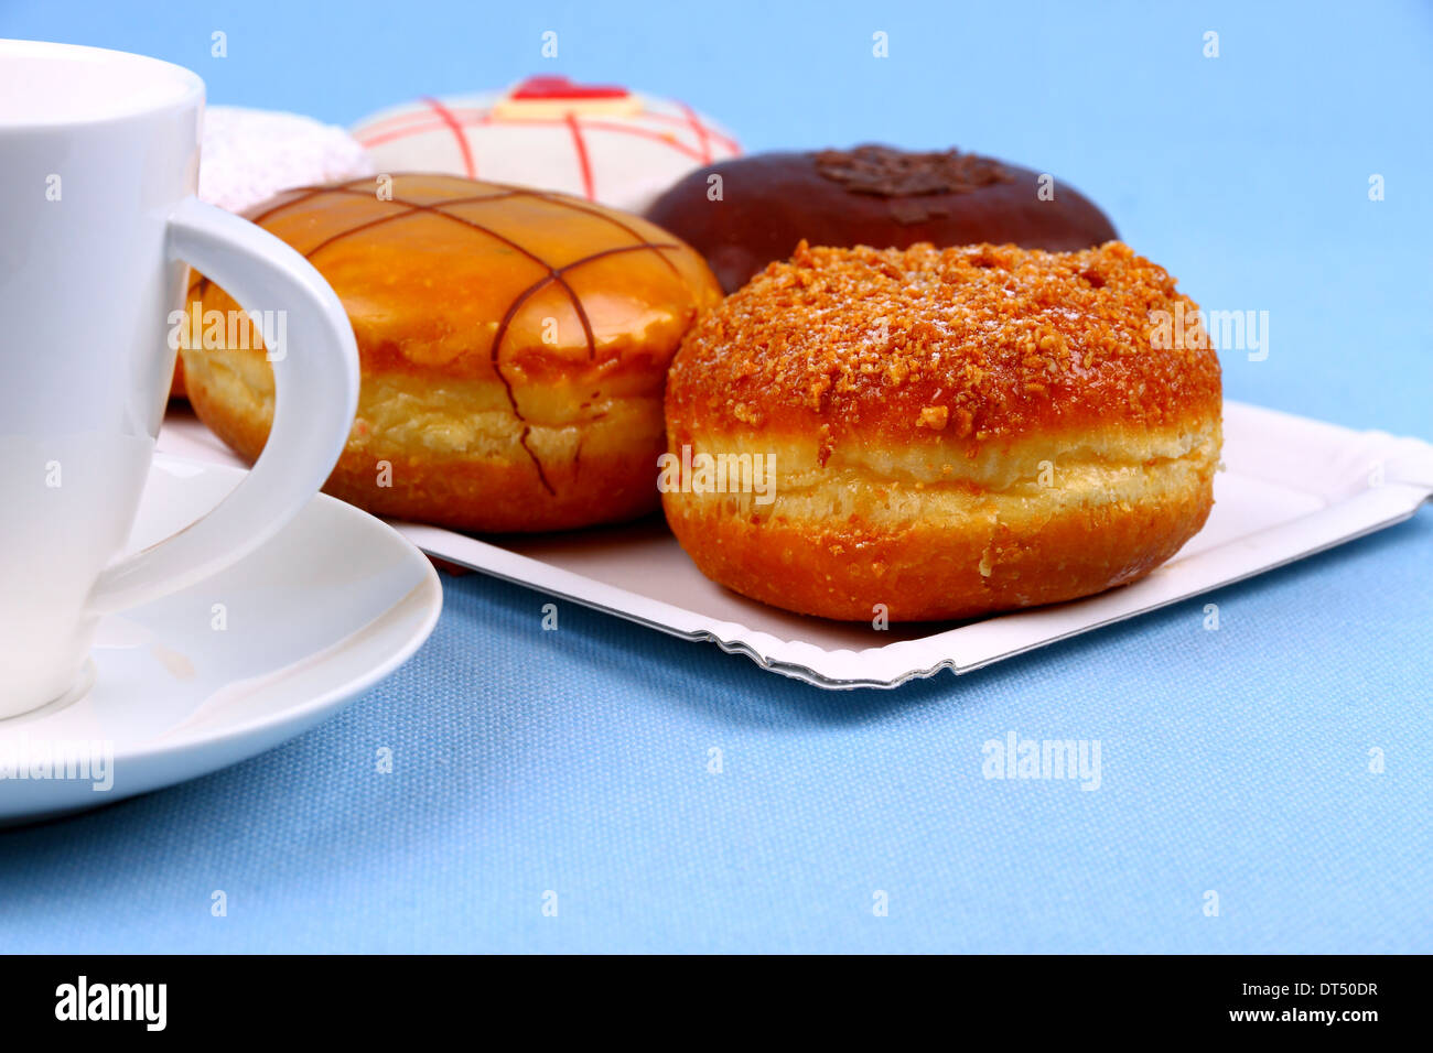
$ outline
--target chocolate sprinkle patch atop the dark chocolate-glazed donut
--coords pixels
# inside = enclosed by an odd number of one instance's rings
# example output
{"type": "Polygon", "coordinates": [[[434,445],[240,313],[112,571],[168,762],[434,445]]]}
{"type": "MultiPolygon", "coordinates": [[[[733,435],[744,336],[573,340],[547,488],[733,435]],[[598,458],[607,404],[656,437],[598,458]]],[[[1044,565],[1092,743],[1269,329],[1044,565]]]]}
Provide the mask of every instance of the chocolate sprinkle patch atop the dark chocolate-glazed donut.
{"type": "Polygon", "coordinates": [[[997,160],[957,149],[907,153],[890,146],[857,146],[813,155],[815,170],[851,193],[876,198],[914,198],[930,193],[970,193],[1015,176],[997,160]]]}

